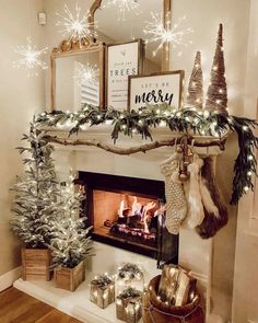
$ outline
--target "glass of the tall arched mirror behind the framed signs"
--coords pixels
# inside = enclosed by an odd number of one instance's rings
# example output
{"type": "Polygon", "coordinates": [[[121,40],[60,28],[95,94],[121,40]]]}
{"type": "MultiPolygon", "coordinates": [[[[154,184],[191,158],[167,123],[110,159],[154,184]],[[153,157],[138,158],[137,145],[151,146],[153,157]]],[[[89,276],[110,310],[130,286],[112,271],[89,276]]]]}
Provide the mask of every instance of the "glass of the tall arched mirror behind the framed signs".
{"type": "MultiPolygon", "coordinates": [[[[153,13],[159,20],[162,19],[163,5],[163,0],[102,0],[94,16],[98,39],[106,44],[126,43],[137,38],[146,41],[150,35],[144,30],[148,23],[153,22],[153,13]]],[[[145,45],[144,73],[161,72],[162,49],[153,54],[159,45],[159,42],[148,42],[145,45]]]]}

